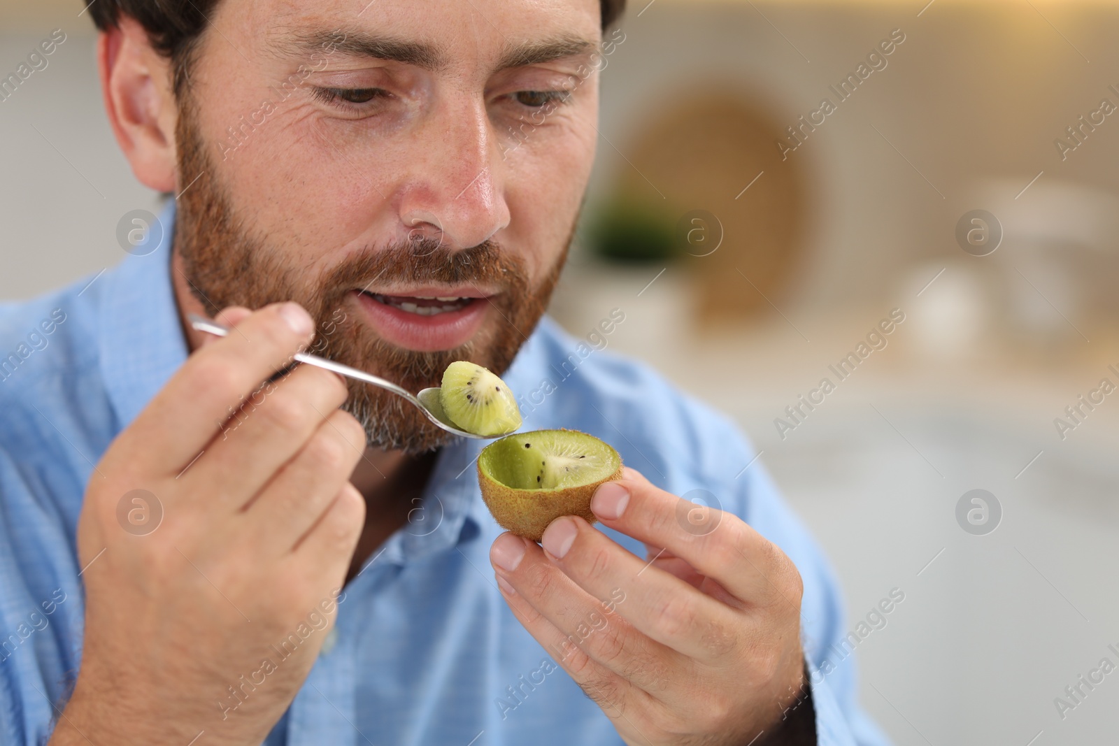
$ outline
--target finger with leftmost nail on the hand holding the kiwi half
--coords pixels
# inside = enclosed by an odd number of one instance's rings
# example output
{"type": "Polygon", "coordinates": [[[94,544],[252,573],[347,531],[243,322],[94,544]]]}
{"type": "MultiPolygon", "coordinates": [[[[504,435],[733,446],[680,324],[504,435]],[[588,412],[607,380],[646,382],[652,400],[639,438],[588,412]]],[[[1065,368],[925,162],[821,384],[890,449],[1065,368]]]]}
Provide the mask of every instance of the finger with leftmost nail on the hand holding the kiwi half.
{"type": "Polygon", "coordinates": [[[614,586],[602,595],[581,588],[549,561],[535,541],[525,541],[511,533],[495,541],[491,559],[498,576],[532,607],[532,612],[526,610],[526,613],[535,613],[564,632],[568,648],[580,648],[595,662],[653,696],[664,692],[669,682],[679,682],[687,676],[685,671],[689,665],[684,655],[650,640],[619,613],[619,607],[628,603],[621,587],[614,586]],[[521,547],[524,554],[517,567],[511,572],[504,569],[499,563],[521,547]]]}

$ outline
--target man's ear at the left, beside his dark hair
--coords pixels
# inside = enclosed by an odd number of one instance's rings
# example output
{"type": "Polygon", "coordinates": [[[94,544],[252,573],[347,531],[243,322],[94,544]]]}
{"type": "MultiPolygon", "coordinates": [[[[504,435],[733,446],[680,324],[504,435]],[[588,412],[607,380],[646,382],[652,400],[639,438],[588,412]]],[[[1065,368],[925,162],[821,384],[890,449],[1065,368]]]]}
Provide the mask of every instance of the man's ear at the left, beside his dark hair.
{"type": "Polygon", "coordinates": [[[170,60],[152,48],[140,23],[122,16],[97,39],[97,67],[109,122],[132,172],[151,189],[173,192],[177,108],[170,60]]]}

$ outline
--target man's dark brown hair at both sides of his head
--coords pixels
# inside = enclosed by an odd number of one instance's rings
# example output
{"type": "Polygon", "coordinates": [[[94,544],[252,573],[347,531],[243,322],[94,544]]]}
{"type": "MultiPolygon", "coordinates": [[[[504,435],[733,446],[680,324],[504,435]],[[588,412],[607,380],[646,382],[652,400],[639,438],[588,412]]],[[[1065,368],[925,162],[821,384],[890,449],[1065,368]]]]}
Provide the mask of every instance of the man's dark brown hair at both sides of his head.
{"type": "MultiPolygon", "coordinates": [[[[626,10],[626,0],[599,0],[602,29],[610,28],[626,10]]],[[[121,16],[137,20],[148,31],[157,51],[172,62],[175,89],[180,93],[195,41],[218,0],[91,0],[86,9],[102,31],[116,26],[121,16]]]]}

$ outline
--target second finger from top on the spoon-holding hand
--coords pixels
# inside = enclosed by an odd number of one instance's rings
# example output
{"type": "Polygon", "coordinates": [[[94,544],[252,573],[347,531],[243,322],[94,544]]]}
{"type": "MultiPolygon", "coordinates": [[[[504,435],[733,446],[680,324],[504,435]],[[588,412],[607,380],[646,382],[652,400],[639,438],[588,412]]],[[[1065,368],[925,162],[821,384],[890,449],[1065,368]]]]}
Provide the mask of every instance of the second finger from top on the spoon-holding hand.
{"type": "MultiPolygon", "coordinates": [[[[254,391],[186,474],[186,481],[220,484],[199,500],[242,509],[295,456],[346,400],[346,385],[329,370],[300,366],[254,391]]],[[[350,431],[352,432],[352,431],[350,431]]],[[[346,473],[349,476],[349,472],[346,473]]]]}

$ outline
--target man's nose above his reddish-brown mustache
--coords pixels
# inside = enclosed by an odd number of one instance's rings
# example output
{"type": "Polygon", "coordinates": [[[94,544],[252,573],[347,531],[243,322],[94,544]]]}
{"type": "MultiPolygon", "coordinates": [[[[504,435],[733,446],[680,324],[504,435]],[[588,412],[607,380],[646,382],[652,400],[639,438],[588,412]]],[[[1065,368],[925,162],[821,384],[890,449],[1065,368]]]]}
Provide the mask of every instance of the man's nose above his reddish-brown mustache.
{"type": "Polygon", "coordinates": [[[444,102],[416,133],[399,216],[411,238],[469,248],[509,225],[502,158],[483,101],[444,102]]]}

